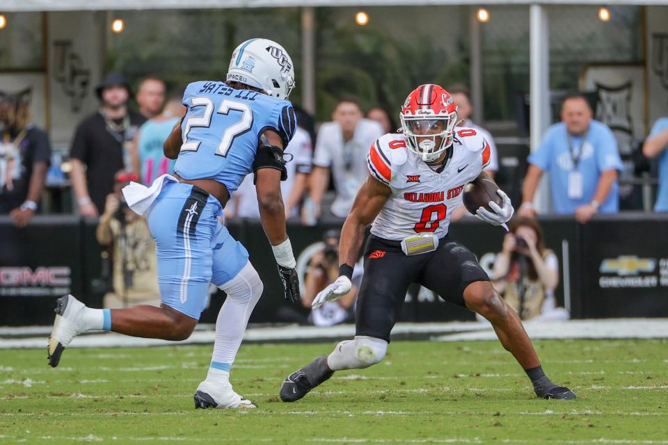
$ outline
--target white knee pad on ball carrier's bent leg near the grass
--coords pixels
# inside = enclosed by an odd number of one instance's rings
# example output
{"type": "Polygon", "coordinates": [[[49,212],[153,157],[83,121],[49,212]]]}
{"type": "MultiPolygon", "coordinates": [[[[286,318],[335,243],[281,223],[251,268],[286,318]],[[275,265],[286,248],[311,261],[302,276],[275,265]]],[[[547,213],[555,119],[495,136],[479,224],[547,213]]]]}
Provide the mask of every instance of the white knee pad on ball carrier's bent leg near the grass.
{"type": "Polygon", "coordinates": [[[364,369],[379,363],[388,351],[388,342],[374,337],[356,337],[337,344],[327,359],[333,371],[364,369]]]}

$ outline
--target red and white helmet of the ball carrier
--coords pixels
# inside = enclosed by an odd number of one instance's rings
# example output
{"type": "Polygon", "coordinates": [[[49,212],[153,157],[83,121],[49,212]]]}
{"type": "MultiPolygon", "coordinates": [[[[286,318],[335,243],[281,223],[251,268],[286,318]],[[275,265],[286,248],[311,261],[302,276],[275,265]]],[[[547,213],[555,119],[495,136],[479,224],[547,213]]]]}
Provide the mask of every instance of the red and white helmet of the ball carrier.
{"type": "Polygon", "coordinates": [[[415,88],[406,97],[399,118],[408,149],[422,161],[436,161],[452,145],[457,106],[443,87],[427,83],[415,88]]]}

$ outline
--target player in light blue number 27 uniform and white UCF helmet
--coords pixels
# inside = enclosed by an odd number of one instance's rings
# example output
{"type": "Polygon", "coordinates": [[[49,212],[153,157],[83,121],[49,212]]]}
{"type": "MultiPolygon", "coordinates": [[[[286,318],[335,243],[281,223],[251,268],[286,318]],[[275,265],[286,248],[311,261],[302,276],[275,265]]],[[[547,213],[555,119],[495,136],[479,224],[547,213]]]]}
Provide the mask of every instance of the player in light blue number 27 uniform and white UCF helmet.
{"type": "Polygon", "coordinates": [[[91,309],[73,296],[58,299],[49,337],[49,364],[57,366],[72,339],[90,330],[111,330],[134,337],[182,340],[190,337],[213,282],[227,293],[216,321],[216,340],[207,378],[195,394],[195,406],[255,407],[230,384],[250,313],[262,294],[262,281],[248,252],[221,225],[222,210],[241,181],[255,174],[264,232],[273,249],[285,298],[300,304],[292,245],[285,229],[280,181],[286,179],[283,147],[296,129],[286,99],[294,88],[292,59],[276,42],[251,39],[234,50],[227,81],[187,86],[184,118],[164,144],[177,159],[173,175],[150,188],[124,189],[129,206],[148,214],[155,238],[161,307],[91,309]]]}

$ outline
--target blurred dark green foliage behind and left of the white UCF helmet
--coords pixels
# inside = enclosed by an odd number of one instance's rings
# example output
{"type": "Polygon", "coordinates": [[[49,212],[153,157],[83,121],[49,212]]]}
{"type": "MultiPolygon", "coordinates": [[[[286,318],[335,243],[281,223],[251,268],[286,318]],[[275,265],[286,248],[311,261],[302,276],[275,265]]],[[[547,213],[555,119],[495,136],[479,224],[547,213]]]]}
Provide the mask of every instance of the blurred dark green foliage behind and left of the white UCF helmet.
{"type": "Polygon", "coordinates": [[[125,31],[111,36],[105,68],[123,72],[134,86],[148,75],[177,88],[224,81],[237,44],[259,37],[280,42],[292,56],[298,83],[291,97],[300,97],[298,8],[128,11],[119,17],[125,31]]]}

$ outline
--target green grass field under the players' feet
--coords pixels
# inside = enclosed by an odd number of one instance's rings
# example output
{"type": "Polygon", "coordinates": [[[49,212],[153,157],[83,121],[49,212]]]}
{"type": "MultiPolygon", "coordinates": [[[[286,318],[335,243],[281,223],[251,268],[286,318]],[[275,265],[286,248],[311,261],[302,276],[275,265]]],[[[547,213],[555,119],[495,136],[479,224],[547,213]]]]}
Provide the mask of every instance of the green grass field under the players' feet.
{"type": "Polygon", "coordinates": [[[534,398],[496,342],[395,342],[302,401],[280,383],[334,343],[244,345],[232,380],[259,403],[194,410],[209,346],[0,350],[0,443],[668,444],[668,341],[537,341],[577,401],[534,398]]]}

